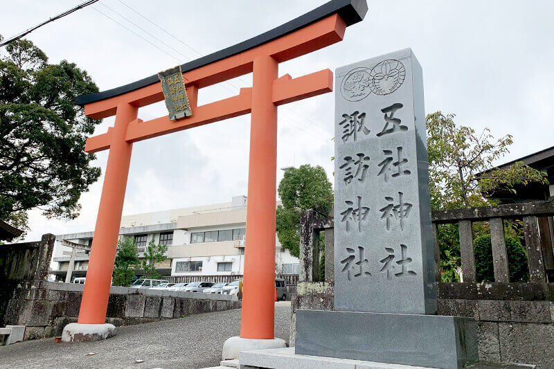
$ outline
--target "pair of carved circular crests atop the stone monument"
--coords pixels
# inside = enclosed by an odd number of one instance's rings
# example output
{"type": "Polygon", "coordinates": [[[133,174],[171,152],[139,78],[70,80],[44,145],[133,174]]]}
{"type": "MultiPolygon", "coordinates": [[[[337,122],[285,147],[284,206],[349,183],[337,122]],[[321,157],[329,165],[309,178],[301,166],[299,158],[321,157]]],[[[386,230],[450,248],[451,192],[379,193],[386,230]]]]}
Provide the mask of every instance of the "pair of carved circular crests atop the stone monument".
{"type": "Polygon", "coordinates": [[[383,60],[373,69],[358,67],[344,76],[341,95],[348,101],[359,101],[370,93],[388,95],[396,91],[406,78],[404,64],[398,60],[383,60]]]}

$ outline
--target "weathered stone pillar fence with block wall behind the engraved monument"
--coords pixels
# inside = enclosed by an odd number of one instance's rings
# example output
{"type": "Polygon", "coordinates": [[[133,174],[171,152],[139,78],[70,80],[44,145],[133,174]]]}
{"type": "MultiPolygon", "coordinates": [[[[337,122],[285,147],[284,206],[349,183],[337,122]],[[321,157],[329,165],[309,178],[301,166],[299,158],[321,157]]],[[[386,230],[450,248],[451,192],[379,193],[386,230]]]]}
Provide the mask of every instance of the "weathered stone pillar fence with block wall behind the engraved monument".
{"type": "MultiPolygon", "coordinates": [[[[330,212],[332,214],[332,211],[330,212]]],[[[554,216],[554,201],[533,201],[431,213],[438,282],[438,314],[469,316],[478,322],[479,359],[533,363],[554,368],[554,282],[551,233],[544,220],[554,216]],[[503,221],[521,219],[529,267],[528,282],[511,282],[503,221]],[[473,222],[490,225],[494,282],[476,282],[473,222]],[[441,282],[438,227],[458,224],[463,282],[441,282]],[[552,280],[552,279],[551,279],[552,280]]],[[[334,222],[314,210],[301,216],[300,276],[292,298],[290,345],[296,336],[296,310],[332,310],[334,305],[334,222]],[[325,233],[325,278],[319,278],[319,239],[325,233]]],[[[371,296],[368,296],[370,299],[371,296]]]]}

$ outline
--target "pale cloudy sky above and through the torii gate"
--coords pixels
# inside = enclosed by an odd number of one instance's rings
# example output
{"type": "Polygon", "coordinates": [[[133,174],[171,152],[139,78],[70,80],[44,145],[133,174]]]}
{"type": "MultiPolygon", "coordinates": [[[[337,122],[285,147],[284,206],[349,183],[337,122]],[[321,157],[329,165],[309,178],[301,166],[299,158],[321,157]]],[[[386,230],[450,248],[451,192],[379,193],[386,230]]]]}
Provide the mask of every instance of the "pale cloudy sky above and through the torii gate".
{"type": "MultiPolygon", "coordinates": [[[[1,0],[0,34],[10,37],[82,1],[1,0]]],[[[85,69],[100,90],[139,80],[218,51],[316,8],[317,0],[102,0],[28,35],[50,62],[85,69]],[[132,7],[132,8],[129,8],[132,7]],[[141,16],[142,15],[142,16],[141,16]],[[161,28],[163,28],[163,30],[161,28]],[[166,32],[167,31],[167,32],[166,32]]],[[[552,1],[368,0],[366,19],[343,42],[280,64],[298,77],[411,47],[423,67],[427,113],[455,113],[458,123],[494,136],[512,134],[503,161],[554,145],[552,1]]],[[[251,75],[199,93],[199,103],[233,96],[251,75]]],[[[310,163],[332,173],[333,96],[279,107],[278,168],[310,163]]],[[[139,111],[167,114],[163,102],[139,111]]],[[[106,132],[113,118],[96,133],[106,132]]],[[[230,201],[247,193],[249,116],[177,132],[133,147],[123,214],[230,201]]],[[[94,165],[105,170],[107,151],[94,165]]],[[[278,173],[278,181],[282,172],[278,173]]],[[[30,212],[32,231],[71,233],[94,228],[102,180],[81,198],[71,222],[30,212]]]]}

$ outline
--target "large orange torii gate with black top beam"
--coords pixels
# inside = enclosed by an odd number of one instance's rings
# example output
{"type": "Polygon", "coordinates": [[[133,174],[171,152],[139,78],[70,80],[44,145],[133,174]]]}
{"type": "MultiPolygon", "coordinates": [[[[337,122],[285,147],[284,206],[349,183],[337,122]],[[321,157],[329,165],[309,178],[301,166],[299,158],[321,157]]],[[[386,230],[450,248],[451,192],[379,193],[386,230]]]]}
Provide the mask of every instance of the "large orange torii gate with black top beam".
{"type": "MultiPolygon", "coordinates": [[[[114,127],[88,138],[85,146],[86,152],[109,149],[109,156],[78,325],[105,323],[133,143],[251,113],[244,251],[248,287],[240,332],[247,339],[274,338],[277,107],[332,91],[329,69],[300,78],[288,74],[278,78],[278,64],[341,41],[346,27],[361,21],[366,11],[365,0],[330,1],[274,30],[181,65],[193,112],[181,120],[137,118],[140,107],[164,100],[157,75],[77,99],[90,118],[116,116],[114,127]],[[198,89],[251,72],[252,87],[240,89],[238,96],[197,106],[198,89]]],[[[64,341],[98,339],[98,332],[93,337],[86,333],[90,330],[70,331],[64,329],[64,337],[69,337],[64,341]]]]}

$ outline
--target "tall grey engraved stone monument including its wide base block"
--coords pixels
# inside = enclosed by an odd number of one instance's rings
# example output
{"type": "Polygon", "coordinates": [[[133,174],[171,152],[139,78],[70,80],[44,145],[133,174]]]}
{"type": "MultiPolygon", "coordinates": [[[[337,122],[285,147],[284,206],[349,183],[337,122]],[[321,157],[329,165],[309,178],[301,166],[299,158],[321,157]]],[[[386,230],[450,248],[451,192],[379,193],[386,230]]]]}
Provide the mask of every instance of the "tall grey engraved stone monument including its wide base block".
{"type": "Polygon", "coordinates": [[[407,48],[335,75],[335,311],[296,312],[296,354],[461,368],[474,320],[432,315],[421,66],[407,48]]]}

